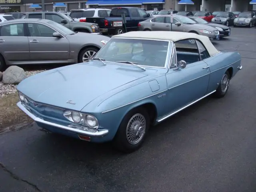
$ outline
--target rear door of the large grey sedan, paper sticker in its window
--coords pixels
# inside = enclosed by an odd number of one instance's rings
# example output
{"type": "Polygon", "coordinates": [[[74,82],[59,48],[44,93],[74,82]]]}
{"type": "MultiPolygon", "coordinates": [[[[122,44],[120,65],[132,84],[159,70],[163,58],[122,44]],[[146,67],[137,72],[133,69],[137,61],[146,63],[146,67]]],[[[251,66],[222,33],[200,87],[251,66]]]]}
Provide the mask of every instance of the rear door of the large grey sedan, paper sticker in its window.
{"type": "Polygon", "coordinates": [[[0,52],[8,62],[28,61],[28,36],[24,23],[0,26],[0,52]]]}

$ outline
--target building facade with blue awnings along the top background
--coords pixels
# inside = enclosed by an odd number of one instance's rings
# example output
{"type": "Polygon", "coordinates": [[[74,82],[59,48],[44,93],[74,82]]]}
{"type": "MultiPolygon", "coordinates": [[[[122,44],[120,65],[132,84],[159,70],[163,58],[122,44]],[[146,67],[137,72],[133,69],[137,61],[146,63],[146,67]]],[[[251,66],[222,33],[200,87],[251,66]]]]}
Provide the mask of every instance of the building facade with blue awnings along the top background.
{"type": "MultiPolygon", "coordinates": [[[[145,10],[174,9],[184,11],[185,5],[178,4],[180,0],[45,0],[45,10],[52,11],[54,3],[66,4],[67,10],[79,8],[108,8],[118,6],[139,7],[145,10]]],[[[202,11],[247,11],[256,8],[250,2],[254,0],[192,0],[194,5],[187,5],[187,10],[202,11]]],[[[0,0],[0,13],[5,12],[31,12],[32,4],[41,5],[41,0],[0,0]]],[[[56,8],[64,10],[64,8],[56,8]]]]}

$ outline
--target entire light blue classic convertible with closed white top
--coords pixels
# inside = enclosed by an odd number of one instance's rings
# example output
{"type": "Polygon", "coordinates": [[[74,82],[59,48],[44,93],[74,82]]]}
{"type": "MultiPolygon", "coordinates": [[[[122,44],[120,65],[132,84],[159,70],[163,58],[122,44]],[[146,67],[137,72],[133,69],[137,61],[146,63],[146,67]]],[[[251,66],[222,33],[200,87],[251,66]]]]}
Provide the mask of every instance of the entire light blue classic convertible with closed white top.
{"type": "Polygon", "coordinates": [[[84,63],[23,80],[18,107],[47,132],[137,150],[148,128],[201,99],[225,96],[242,69],[237,52],[183,32],[113,36],[84,63]]]}

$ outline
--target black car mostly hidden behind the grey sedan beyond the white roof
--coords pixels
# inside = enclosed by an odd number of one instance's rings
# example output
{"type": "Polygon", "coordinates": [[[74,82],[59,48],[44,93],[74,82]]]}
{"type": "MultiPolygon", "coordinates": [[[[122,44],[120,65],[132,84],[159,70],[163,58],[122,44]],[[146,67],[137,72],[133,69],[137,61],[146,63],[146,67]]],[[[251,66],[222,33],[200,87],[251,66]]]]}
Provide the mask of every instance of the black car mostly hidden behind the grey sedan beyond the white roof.
{"type": "Polygon", "coordinates": [[[230,36],[230,34],[231,34],[230,28],[226,25],[217,24],[217,23],[209,23],[206,20],[204,20],[200,17],[196,17],[196,16],[191,16],[189,18],[199,24],[208,25],[208,26],[216,28],[220,32],[220,37],[227,37],[227,36],[230,36]]]}

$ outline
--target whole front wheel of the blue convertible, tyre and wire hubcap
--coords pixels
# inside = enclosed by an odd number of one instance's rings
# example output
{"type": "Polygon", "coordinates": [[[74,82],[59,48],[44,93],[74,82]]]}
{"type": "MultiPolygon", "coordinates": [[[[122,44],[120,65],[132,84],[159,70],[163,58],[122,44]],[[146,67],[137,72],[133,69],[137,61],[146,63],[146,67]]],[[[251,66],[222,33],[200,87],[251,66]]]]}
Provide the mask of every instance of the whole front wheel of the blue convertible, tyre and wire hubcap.
{"type": "Polygon", "coordinates": [[[150,126],[148,112],[144,108],[135,108],[126,114],[113,140],[114,147],[130,153],[138,150],[144,142],[150,126]]]}

